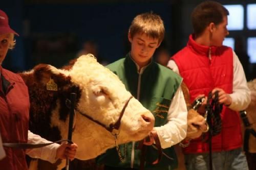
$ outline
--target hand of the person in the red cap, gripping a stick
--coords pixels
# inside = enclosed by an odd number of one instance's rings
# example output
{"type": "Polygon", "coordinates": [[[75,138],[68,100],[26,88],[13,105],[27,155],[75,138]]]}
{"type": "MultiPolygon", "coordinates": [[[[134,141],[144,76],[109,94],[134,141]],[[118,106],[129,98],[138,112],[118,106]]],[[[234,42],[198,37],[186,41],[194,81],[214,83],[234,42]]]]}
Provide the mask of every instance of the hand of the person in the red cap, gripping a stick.
{"type": "Polygon", "coordinates": [[[73,160],[76,155],[77,144],[63,142],[59,145],[56,151],[56,159],[70,159],[73,160]]]}

